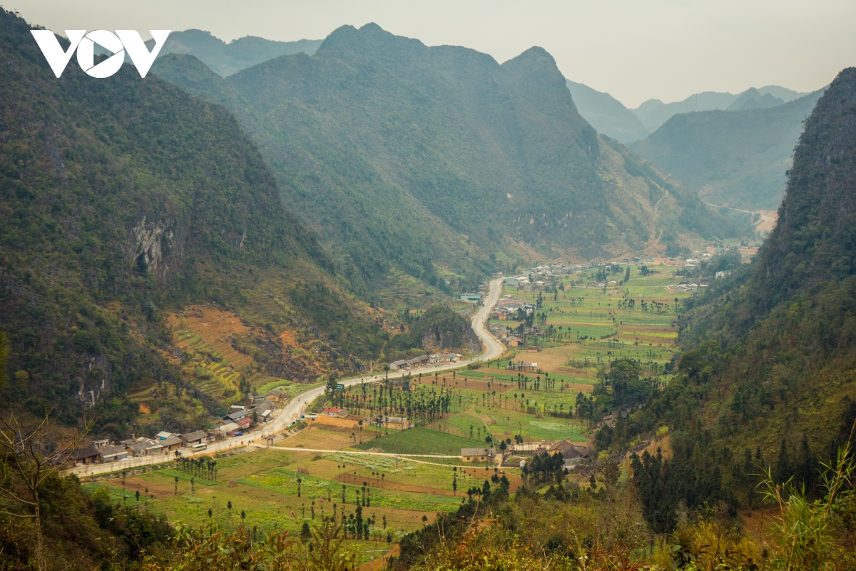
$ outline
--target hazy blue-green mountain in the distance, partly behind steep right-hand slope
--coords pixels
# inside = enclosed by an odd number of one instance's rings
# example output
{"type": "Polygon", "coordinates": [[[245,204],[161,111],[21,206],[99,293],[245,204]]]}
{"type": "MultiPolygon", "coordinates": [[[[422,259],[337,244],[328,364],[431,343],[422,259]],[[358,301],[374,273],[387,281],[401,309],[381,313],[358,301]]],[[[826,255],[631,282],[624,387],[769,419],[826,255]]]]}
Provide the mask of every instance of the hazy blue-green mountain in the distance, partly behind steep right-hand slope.
{"type": "Polygon", "coordinates": [[[706,202],[775,210],[802,122],[822,94],[813,92],[769,109],[682,113],[630,148],[706,202]]]}

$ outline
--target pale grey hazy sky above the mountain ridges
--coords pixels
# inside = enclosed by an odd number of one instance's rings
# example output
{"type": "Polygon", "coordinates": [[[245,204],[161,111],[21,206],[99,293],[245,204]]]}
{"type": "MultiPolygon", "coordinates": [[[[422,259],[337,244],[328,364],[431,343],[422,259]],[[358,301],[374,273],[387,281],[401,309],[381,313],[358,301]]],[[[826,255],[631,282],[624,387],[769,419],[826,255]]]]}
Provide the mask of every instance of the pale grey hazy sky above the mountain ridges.
{"type": "Polygon", "coordinates": [[[776,84],[801,92],[856,65],[856,0],[0,0],[65,29],[207,30],[227,41],[320,39],[376,22],[504,62],[540,45],[562,73],[628,107],[776,84]]]}

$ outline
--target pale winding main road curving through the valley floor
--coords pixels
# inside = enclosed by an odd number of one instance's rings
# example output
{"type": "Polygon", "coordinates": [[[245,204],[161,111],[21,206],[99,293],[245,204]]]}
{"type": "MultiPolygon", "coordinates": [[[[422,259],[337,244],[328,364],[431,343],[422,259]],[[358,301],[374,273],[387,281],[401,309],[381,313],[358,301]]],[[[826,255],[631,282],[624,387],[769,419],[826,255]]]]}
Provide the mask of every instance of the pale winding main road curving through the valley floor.
{"type": "MultiPolygon", "coordinates": [[[[438,371],[448,371],[449,369],[457,369],[461,366],[467,366],[467,364],[472,363],[474,361],[496,359],[497,357],[502,355],[502,353],[505,352],[505,346],[502,345],[502,343],[499,342],[496,337],[490,335],[490,331],[488,331],[486,327],[490,312],[493,310],[493,306],[496,305],[496,300],[499,300],[499,294],[501,292],[502,278],[498,278],[490,282],[490,289],[487,294],[487,298],[484,300],[484,305],[479,308],[479,312],[476,312],[476,315],[473,318],[473,331],[475,331],[476,335],[479,336],[479,339],[481,339],[482,348],[484,349],[482,354],[473,357],[473,359],[462,360],[457,363],[421,367],[419,369],[419,372],[432,373],[438,371]]],[[[365,377],[360,378],[349,378],[339,382],[344,384],[345,386],[350,386],[352,384],[360,384],[372,380],[380,380],[383,378],[401,378],[407,375],[408,373],[409,372],[407,371],[390,372],[389,375],[376,373],[374,375],[366,375],[365,377]]],[[[300,415],[304,413],[304,411],[306,411],[306,408],[312,404],[312,401],[322,395],[324,395],[324,386],[306,390],[300,393],[299,395],[295,395],[290,401],[288,401],[288,403],[284,407],[282,407],[282,409],[277,411],[275,419],[270,420],[270,422],[268,422],[266,425],[261,426],[261,430],[253,431],[252,433],[243,437],[232,437],[222,440],[218,443],[210,443],[208,444],[208,448],[205,449],[205,451],[198,452],[196,454],[208,455],[215,452],[223,452],[224,450],[246,446],[247,443],[251,443],[253,441],[262,443],[264,442],[265,437],[271,437],[275,434],[285,431],[288,428],[288,425],[291,425],[294,420],[300,419],[300,415]]],[[[193,457],[193,453],[185,449],[181,449],[181,455],[186,458],[193,457]]],[[[86,466],[70,468],[68,469],[67,473],[75,473],[80,477],[94,476],[102,473],[118,472],[120,470],[133,470],[134,468],[153,466],[155,464],[162,464],[164,462],[173,461],[174,459],[174,456],[170,455],[140,456],[138,458],[128,458],[128,460],[108,462],[106,464],[88,464],[86,466]]]]}

